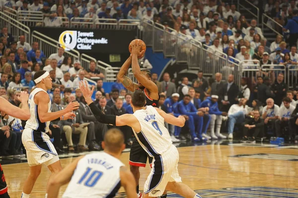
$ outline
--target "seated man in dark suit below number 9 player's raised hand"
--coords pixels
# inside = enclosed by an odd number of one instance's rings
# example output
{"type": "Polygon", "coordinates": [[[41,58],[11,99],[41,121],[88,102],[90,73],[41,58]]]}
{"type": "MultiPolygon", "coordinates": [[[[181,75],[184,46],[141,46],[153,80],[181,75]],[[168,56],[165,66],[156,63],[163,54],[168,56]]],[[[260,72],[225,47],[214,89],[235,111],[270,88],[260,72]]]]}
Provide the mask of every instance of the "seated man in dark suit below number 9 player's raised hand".
{"type": "Polygon", "coordinates": [[[100,146],[96,142],[95,133],[99,134],[99,139],[102,140],[103,135],[108,130],[108,128],[105,124],[102,124],[96,120],[83,96],[80,97],[80,101],[81,102],[79,104],[79,110],[81,112],[82,119],[84,122],[90,123],[88,125],[87,133],[87,139],[89,142],[88,148],[89,150],[99,150],[100,146]]]}

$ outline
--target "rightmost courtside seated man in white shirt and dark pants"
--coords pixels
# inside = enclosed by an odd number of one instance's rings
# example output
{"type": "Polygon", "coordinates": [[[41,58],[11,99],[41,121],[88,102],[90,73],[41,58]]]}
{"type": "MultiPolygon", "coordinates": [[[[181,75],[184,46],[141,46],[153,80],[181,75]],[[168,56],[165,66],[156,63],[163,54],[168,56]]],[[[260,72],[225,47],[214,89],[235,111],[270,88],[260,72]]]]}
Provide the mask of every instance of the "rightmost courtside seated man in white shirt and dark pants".
{"type": "MultiPolygon", "coordinates": [[[[282,129],[289,126],[290,117],[295,110],[295,106],[291,104],[291,99],[284,98],[283,104],[278,111],[278,118],[275,120],[276,137],[283,137],[282,129]]],[[[288,134],[287,134],[288,135],[288,134]]]]}

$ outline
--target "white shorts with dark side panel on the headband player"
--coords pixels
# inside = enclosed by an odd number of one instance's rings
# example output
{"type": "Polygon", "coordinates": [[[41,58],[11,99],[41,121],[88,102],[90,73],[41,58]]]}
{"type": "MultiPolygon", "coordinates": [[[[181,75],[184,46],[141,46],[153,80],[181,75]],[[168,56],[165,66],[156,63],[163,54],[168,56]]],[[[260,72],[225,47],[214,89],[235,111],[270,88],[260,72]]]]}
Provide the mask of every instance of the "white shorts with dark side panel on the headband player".
{"type": "Polygon", "coordinates": [[[49,166],[59,160],[57,151],[50,141],[50,137],[44,132],[26,128],[22,133],[22,143],[27,152],[29,166],[39,164],[49,166]]]}

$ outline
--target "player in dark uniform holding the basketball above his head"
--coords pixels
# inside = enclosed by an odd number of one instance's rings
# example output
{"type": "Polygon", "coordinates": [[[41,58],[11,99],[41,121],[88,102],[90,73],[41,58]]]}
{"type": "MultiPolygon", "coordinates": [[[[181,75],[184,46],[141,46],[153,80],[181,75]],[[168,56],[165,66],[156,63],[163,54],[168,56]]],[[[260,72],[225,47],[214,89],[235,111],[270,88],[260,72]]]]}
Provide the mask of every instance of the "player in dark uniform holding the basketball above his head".
{"type": "MultiPolygon", "coordinates": [[[[135,90],[139,90],[139,89],[143,90],[143,92],[146,95],[146,105],[158,107],[158,100],[159,100],[158,88],[156,84],[153,81],[151,81],[150,71],[148,69],[141,70],[138,62],[138,57],[143,56],[145,51],[140,52],[141,43],[136,42],[132,44],[132,46],[133,46],[132,54],[123,63],[117,75],[117,79],[124,85],[126,89],[128,89],[131,92],[134,92],[135,90]],[[131,64],[132,64],[134,76],[138,80],[138,84],[133,83],[133,81],[128,76],[125,76],[131,64]]],[[[140,198],[142,197],[142,195],[139,192],[139,179],[140,179],[139,168],[146,166],[147,158],[149,158],[149,164],[151,165],[152,158],[148,156],[147,152],[141,147],[137,139],[135,139],[130,151],[129,164],[130,164],[130,170],[136,179],[137,193],[139,194],[140,198]]]]}

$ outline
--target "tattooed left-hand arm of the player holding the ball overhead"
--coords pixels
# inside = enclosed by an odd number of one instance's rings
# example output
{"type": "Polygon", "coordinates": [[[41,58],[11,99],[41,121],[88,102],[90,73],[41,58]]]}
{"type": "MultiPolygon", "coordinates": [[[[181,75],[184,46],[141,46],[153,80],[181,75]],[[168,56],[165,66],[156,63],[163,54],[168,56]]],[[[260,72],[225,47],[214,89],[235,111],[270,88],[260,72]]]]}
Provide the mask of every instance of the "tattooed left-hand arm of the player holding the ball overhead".
{"type": "Polygon", "coordinates": [[[130,79],[128,76],[125,76],[131,63],[132,56],[129,56],[129,58],[123,63],[117,75],[117,80],[120,81],[126,89],[128,89],[131,92],[134,92],[136,89],[139,89],[138,84],[133,83],[132,79],[130,79]]]}

